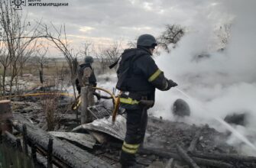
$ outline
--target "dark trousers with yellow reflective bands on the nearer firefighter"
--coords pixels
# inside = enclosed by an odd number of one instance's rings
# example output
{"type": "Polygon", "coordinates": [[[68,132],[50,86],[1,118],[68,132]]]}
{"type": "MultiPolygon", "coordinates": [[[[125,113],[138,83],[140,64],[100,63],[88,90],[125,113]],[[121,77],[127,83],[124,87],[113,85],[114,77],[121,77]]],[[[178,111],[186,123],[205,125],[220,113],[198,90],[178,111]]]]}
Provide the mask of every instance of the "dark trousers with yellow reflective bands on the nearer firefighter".
{"type": "Polygon", "coordinates": [[[147,128],[147,109],[126,110],[126,134],[122,145],[120,163],[122,167],[133,166],[136,163],[135,154],[144,141],[147,128]]]}

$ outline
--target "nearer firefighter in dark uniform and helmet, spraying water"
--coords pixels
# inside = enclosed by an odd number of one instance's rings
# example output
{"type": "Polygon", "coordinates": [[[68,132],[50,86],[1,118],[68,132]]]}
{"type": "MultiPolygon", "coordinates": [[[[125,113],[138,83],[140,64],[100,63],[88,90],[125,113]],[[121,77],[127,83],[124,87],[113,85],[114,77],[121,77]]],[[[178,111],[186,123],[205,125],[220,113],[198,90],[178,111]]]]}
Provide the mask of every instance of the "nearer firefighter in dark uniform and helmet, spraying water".
{"type": "Polygon", "coordinates": [[[177,86],[164,76],[151,57],[156,46],[157,41],[152,35],[143,34],[138,37],[137,48],[125,50],[119,63],[116,87],[122,91],[120,105],[127,112],[120,156],[122,167],[136,167],[135,153],[144,141],[147,109],[154,105],[155,89],[166,91],[177,86]]]}

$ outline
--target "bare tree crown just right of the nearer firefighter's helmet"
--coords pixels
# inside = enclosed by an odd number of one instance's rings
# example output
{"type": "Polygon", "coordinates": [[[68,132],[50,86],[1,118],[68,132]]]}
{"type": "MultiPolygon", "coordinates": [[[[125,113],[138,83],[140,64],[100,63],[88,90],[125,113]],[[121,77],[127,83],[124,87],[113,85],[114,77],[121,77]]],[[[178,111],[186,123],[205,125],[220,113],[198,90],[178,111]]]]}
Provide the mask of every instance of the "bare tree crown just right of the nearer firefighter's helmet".
{"type": "Polygon", "coordinates": [[[177,44],[181,37],[185,33],[184,27],[176,24],[167,24],[166,30],[157,38],[158,44],[160,47],[163,47],[167,53],[170,52],[168,48],[169,44],[177,44]]]}

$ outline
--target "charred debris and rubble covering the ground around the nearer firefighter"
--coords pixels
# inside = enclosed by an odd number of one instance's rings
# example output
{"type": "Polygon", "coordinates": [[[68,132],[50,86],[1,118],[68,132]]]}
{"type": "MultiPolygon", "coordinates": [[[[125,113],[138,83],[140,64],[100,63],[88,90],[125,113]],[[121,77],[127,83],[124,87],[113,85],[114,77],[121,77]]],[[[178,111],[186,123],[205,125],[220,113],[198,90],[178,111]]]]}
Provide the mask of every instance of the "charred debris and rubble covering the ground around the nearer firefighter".
{"type": "MultiPolygon", "coordinates": [[[[57,124],[48,131],[45,125],[47,114],[44,114],[44,107],[38,103],[41,99],[36,102],[34,99],[29,101],[28,98],[26,102],[24,99],[21,101],[15,99],[15,102],[12,102],[12,124],[16,130],[13,134],[17,135],[16,138],[21,137],[22,145],[19,145],[19,150],[24,150],[21,146],[26,143],[28,149],[25,151],[31,153],[31,156],[37,153],[36,159],[41,160],[41,166],[47,166],[47,159],[42,161],[38,152],[45,158],[49,157],[47,152],[49,153],[52,139],[50,163],[54,165],[121,167],[118,158],[125,136],[125,115],[118,115],[114,126],[111,118],[99,114],[95,114],[96,120],[92,123],[80,125],[77,120],[79,114],[67,110],[69,105],[66,105],[66,108],[57,105],[58,112],[54,114],[53,120],[57,124]],[[25,139],[22,138],[23,125],[27,126],[25,139]]],[[[90,108],[90,111],[100,112],[100,109],[102,108],[98,106],[98,110],[90,108]]],[[[189,111],[189,108],[186,108],[186,111],[189,111]]],[[[4,137],[2,139],[17,141],[8,133],[5,133],[4,137]]],[[[141,167],[151,168],[256,167],[256,157],[239,154],[234,147],[225,143],[227,138],[228,133],[220,133],[208,125],[196,126],[150,117],[144,144],[138,150],[137,162],[141,167]]]]}

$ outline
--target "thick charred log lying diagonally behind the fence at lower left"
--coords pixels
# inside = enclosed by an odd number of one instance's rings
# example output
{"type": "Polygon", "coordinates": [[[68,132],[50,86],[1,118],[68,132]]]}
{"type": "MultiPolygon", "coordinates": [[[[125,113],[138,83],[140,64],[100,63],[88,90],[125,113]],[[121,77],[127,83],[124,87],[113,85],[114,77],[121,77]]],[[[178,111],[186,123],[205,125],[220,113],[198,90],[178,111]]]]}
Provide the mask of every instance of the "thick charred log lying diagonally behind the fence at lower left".
{"type": "Polygon", "coordinates": [[[67,166],[76,167],[112,167],[109,163],[95,157],[86,150],[82,150],[73,144],[60,141],[56,137],[51,136],[46,131],[37,128],[26,120],[22,115],[14,113],[15,121],[13,126],[16,130],[22,132],[22,124],[27,126],[28,141],[34,141],[37,147],[47,151],[49,138],[53,138],[53,157],[60,160],[67,166]],[[72,153],[72,154],[71,154],[72,153]]]}

